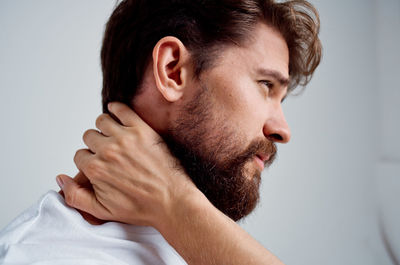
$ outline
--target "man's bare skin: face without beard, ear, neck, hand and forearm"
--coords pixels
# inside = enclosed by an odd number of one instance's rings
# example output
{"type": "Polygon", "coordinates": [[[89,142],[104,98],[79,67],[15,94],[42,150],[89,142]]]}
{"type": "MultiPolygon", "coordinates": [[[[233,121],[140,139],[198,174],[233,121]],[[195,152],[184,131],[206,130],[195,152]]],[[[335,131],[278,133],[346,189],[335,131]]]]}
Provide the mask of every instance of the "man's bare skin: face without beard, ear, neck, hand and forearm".
{"type": "MultiPolygon", "coordinates": [[[[259,23],[247,45],[227,47],[217,62],[200,81],[211,88],[218,121],[235,129],[243,147],[255,139],[288,142],[281,108],[289,79],[283,37],[259,23]]],[[[157,43],[143,93],[132,104],[138,115],[111,104],[122,126],[100,115],[96,127],[101,133],[87,131],[83,139],[89,150],[76,153],[80,173],[75,180],[57,177],[66,202],[91,214],[92,223],[100,219],[155,227],[188,264],[282,264],[213,207],[162,143],[159,134],[179,119],[200,87],[191,69],[190,53],[178,39],[157,43]]],[[[255,156],[246,172],[261,171],[267,159],[255,156]]]]}

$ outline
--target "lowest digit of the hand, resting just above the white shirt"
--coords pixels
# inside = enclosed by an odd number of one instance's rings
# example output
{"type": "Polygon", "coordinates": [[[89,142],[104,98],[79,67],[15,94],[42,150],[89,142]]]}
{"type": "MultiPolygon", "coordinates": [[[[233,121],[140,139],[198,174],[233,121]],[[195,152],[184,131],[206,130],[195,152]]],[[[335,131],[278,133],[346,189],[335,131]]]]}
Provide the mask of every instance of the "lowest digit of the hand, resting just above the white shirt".
{"type": "Polygon", "coordinates": [[[67,175],[58,175],[56,180],[69,206],[102,220],[110,219],[109,211],[97,200],[93,191],[81,187],[67,175]]]}

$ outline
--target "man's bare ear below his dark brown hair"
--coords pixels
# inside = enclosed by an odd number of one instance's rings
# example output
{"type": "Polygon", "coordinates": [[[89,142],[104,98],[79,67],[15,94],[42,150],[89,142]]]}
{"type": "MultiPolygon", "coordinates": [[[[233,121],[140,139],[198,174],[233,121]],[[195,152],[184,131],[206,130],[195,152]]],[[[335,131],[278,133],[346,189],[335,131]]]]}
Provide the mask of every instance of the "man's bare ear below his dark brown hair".
{"type": "Polygon", "coordinates": [[[153,49],[153,74],[158,90],[169,102],[179,100],[188,81],[189,52],[175,37],[164,37],[153,49]]]}

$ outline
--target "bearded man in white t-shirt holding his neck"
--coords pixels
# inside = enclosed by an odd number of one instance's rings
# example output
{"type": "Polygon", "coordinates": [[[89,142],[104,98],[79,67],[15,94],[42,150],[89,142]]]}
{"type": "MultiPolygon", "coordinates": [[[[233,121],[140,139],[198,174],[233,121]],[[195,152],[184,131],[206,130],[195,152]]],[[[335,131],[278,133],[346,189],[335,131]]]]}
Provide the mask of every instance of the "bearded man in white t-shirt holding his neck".
{"type": "Polygon", "coordinates": [[[123,126],[101,115],[82,173],[58,178],[80,214],[45,195],[2,232],[3,262],[184,263],[176,250],[189,264],[279,264],[231,220],[254,209],[290,139],[281,102],[317,67],[318,29],[304,1],[122,1],[101,59],[103,110],[123,126]]]}

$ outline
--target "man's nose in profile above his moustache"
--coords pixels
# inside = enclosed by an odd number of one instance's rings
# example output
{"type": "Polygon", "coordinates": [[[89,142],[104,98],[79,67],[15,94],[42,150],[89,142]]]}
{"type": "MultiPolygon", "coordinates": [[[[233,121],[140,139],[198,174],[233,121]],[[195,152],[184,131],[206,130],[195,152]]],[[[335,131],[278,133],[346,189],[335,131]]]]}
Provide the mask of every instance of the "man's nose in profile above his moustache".
{"type": "Polygon", "coordinates": [[[287,143],[290,141],[290,128],[286,122],[281,105],[269,113],[265,121],[263,133],[270,141],[287,143]]]}

